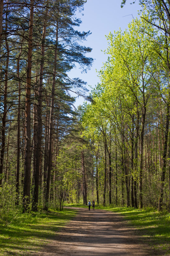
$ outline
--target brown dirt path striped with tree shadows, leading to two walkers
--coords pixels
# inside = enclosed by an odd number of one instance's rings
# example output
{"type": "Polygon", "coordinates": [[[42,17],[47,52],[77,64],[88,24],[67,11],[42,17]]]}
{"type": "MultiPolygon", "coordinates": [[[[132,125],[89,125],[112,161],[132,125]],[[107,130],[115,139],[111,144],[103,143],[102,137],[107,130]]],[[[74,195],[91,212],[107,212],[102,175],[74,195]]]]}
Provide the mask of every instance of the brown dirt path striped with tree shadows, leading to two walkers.
{"type": "Polygon", "coordinates": [[[105,210],[78,209],[51,244],[36,256],[151,256],[156,255],[142,244],[140,236],[127,227],[122,216],[105,210]],[[140,241],[140,242],[139,242],[140,241]]]}

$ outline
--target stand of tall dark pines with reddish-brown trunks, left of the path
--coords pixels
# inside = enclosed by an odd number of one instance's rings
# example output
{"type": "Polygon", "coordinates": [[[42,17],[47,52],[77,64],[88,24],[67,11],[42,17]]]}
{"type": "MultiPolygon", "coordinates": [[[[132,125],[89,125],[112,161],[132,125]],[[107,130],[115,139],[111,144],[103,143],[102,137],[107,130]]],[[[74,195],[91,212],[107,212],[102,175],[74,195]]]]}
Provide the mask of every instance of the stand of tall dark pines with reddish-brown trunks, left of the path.
{"type": "Polygon", "coordinates": [[[0,186],[3,193],[15,184],[13,202],[23,212],[30,204],[48,210],[59,175],[55,159],[73,122],[69,90],[85,94],[84,81],[67,75],[92,63],[85,56],[91,48],[79,44],[90,32],[74,29],[85,2],[0,1],[0,186]]]}

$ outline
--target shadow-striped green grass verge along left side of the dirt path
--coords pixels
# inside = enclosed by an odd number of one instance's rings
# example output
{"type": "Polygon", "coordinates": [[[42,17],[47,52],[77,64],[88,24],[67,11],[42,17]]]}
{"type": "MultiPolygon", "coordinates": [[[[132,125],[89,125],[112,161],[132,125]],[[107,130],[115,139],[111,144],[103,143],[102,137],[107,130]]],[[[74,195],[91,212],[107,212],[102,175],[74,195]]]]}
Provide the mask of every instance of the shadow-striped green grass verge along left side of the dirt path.
{"type": "Polygon", "coordinates": [[[70,208],[62,212],[18,214],[7,227],[0,225],[0,256],[28,256],[41,251],[76,213],[70,208]]]}

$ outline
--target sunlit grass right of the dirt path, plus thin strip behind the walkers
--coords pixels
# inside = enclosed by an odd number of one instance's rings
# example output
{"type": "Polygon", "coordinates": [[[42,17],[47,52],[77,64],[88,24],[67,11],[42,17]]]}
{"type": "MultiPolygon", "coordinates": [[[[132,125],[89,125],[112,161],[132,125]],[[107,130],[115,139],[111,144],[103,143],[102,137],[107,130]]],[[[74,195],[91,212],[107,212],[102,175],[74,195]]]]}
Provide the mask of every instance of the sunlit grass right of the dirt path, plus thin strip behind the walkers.
{"type": "MultiPolygon", "coordinates": [[[[87,208],[80,204],[69,204],[69,206],[87,208]]],[[[95,208],[122,215],[126,224],[135,230],[143,243],[149,244],[156,251],[161,250],[161,255],[170,255],[170,213],[157,212],[151,208],[141,210],[102,205],[96,205],[95,208]]]]}

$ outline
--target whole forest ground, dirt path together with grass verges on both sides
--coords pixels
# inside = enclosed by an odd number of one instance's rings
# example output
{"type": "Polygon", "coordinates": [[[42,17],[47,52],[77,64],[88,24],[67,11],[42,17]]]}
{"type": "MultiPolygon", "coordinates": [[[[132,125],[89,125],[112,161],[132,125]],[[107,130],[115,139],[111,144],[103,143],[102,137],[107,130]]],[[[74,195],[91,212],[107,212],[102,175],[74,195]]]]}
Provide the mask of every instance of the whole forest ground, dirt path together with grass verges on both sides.
{"type": "Polygon", "coordinates": [[[75,206],[62,212],[22,214],[1,227],[0,256],[170,256],[169,214],[75,206]]]}

